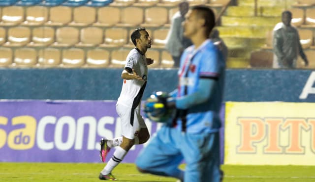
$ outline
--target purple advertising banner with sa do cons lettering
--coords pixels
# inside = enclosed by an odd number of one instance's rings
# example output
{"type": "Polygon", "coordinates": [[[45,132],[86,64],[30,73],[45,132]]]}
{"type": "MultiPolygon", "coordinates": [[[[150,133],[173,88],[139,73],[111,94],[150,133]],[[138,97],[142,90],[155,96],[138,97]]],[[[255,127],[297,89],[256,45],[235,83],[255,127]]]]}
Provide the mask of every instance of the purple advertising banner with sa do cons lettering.
{"type": "MultiPolygon", "coordinates": [[[[151,136],[161,127],[145,121],[151,136]]],[[[99,139],[119,136],[116,101],[0,101],[0,161],[100,162],[99,139]]],[[[134,162],[146,145],[133,146],[123,162],[134,162]]]]}

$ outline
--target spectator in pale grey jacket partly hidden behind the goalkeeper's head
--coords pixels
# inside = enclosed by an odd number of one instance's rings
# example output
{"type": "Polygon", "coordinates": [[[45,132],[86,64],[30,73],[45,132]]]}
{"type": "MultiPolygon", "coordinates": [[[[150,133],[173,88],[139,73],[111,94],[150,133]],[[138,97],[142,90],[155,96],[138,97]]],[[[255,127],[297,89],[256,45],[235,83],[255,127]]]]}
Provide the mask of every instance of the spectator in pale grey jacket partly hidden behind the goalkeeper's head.
{"type": "Polygon", "coordinates": [[[189,3],[183,1],[179,3],[179,11],[172,17],[171,27],[166,37],[166,50],[172,55],[174,67],[178,68],[183,51],[192,45],[191,41],[184,37],[184,28],[182,22],[185,20],[185,15],[189,10],[189,3]]]}

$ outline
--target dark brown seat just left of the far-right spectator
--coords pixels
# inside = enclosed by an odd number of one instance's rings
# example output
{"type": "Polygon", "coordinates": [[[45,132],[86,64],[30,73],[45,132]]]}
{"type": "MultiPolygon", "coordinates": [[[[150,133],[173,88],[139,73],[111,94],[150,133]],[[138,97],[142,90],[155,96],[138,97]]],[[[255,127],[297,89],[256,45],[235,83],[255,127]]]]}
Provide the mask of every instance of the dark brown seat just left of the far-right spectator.
{"type": "Polygon", "coordinates": [[[250,66],[252,68],[272,68],[273,52],[259,50],[251,52],[250,66]]]}

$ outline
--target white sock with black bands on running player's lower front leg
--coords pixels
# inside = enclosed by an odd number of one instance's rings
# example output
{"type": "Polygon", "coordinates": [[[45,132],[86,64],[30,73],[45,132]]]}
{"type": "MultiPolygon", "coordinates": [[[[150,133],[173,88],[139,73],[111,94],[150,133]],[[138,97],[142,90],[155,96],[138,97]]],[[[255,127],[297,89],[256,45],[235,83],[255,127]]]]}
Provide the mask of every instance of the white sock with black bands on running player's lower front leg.
{"type": "Polygon", "coordinates": [[[101,171],[103,175],[108,175],[113,169],[124,159],[128,151],[118,146],[112,158],[109,159],[104,169],[101,171]]]}

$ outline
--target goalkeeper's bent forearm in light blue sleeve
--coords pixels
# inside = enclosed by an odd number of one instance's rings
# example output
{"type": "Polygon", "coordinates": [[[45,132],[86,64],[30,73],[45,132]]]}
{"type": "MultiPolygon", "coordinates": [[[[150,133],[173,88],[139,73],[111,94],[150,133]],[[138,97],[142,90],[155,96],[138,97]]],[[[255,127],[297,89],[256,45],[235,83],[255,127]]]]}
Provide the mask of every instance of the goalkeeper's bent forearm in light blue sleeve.
{"type": "Polygon", "coordinates": [[[178,109],[188,109],[189,107],[207,101],[215,85],[216,80],[202,78],[199,80],[197,91],[183,97],[169,98],[167,106],[178,109]]]}

